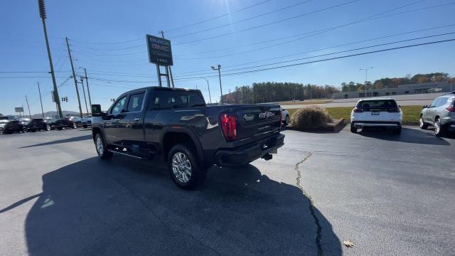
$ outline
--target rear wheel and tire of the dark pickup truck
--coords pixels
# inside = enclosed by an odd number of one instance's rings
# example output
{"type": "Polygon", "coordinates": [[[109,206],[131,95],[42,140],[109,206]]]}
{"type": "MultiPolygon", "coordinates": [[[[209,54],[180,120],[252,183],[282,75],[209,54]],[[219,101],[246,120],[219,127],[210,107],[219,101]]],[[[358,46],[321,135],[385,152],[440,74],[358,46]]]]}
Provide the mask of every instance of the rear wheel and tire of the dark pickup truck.
{"type": "Polygon", "coordinates": [[[173,182],[176,183],[179,188],[186,190],[191,190],[200,186],[207,175],[207,169],[198,162],[196,149],[190,144],[177,144],[172,147],[168,154],[168,169],[173,182]],[[190,172],[189,177],[188,171],[190,172]]]}

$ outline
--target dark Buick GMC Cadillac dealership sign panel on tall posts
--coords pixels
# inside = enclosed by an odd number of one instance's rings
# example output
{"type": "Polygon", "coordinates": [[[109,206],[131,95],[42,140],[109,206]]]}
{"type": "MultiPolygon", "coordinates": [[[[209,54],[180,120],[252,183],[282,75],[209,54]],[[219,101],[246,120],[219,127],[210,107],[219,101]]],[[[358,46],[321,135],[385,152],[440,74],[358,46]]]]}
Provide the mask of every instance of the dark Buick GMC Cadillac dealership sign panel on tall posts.
{"type": "Polygon", "coordinates": [[[173,65],[171,41],[156,36],[146,35],[149,61],[156,65],[173,65]]]}

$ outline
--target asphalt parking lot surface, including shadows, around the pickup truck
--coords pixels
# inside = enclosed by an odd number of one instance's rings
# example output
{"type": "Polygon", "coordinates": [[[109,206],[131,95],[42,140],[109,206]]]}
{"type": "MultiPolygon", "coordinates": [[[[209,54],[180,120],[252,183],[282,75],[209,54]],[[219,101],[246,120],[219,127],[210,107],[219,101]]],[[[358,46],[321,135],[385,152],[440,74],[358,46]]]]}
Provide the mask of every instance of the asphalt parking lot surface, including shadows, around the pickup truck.
{"type": "Polygon", "coordinates": [[[89,129],[2,136],[0,255],[454,255],[453,137],[284,134],[198,191],[159,159],[97,159],[89,129]]]}

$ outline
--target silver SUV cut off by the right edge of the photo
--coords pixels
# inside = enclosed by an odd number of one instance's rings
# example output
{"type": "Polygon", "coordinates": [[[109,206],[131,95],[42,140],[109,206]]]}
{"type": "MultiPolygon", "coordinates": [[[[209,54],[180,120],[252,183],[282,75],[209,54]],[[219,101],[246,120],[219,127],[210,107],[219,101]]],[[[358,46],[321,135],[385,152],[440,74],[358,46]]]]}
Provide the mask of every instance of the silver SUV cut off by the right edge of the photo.
{"type": "Polygon", "coordinates": [[[437,97],[420,113],[420,128],[434,126],[434,134],[441,136],[446,131],[455,131],[455,91],[437,97]]]}

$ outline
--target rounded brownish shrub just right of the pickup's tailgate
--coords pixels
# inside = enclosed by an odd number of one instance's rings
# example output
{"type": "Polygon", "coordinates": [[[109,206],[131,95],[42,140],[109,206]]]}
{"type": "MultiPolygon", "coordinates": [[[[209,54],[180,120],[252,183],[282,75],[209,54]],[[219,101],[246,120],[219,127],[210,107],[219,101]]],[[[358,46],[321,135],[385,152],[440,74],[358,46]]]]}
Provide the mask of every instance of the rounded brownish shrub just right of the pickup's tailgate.
{"type": "Polygon", "coordinates": [[[310,106],[297,110],[291,116],[291,125],[298,129],[314,129],[331,122],[326,109],[310,106]]]}

